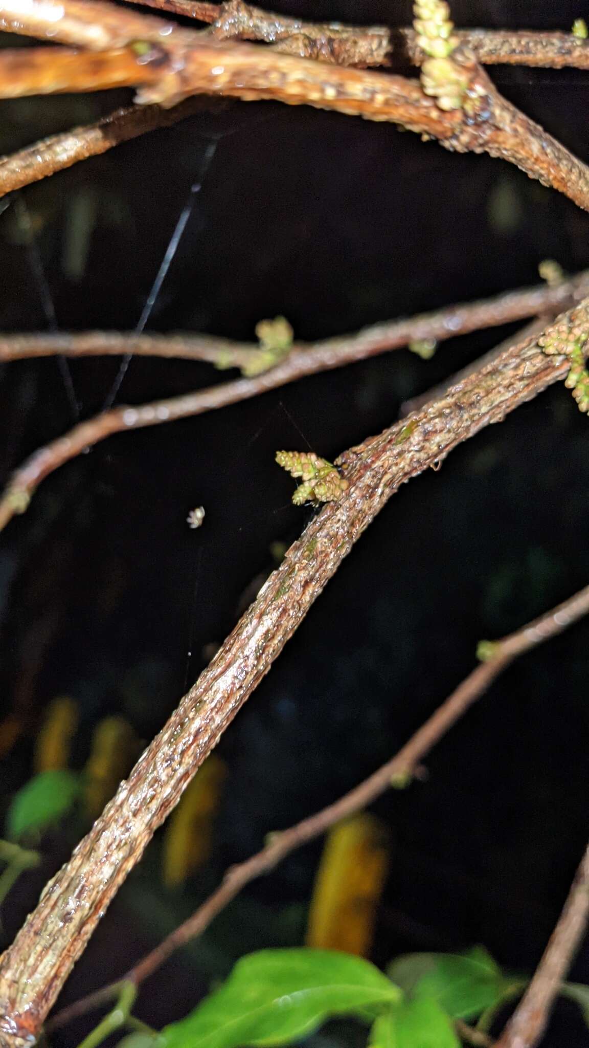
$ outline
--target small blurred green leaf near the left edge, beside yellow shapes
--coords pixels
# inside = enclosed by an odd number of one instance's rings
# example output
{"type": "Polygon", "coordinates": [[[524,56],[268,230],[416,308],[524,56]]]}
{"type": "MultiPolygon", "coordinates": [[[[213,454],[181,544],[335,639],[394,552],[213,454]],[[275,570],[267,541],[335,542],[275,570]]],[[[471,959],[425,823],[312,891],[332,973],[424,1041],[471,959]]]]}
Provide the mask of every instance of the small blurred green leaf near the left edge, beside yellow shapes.
{"type": "Polygon", "coordinates": [[[18,840],[58,823],[71,808],[80,788],[72,771],[42,771],[15,794],[6,814],[6,834],[18,840]]]}

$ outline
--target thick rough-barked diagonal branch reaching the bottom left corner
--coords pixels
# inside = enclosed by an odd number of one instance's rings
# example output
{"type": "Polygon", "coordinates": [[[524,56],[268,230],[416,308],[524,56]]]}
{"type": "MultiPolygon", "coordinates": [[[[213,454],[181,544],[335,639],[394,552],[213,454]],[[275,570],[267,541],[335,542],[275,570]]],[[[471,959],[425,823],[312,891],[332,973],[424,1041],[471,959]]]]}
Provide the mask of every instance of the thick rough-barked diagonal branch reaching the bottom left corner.
{"type": "MultiPolygon", "coordinates": [[[[583,318],[589,324],[587,301],[576,309],[576,324],[583,318]]],[[[531,342],[341,456],[347,490],[324,506],[287,551],[2,956],[1,1048],[24,1048],[38,1034],[153,833],[391,495],[566,370],[566,359],[545,355],[531,342]]]]}

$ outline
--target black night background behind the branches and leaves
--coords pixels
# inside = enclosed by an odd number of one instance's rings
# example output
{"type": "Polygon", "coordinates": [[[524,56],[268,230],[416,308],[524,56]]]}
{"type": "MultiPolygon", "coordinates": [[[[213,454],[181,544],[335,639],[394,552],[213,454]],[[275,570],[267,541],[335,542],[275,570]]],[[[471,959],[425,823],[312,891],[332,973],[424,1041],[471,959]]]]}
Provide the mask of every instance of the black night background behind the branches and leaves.
{"type": "MultiPolygon", "coordinates": [[[[408,3],[292,0],[284,13],[407,24],[408,3]]],[[[456,3],[459,25],[570,28],[575,2],[456,3]]],[[[503,93],[589,160],[589,73],[490,70],[503,93]]],[[[2,103],[0,150],[95,119],[130,97],[2,103]]],[[[283,313],[313,340],[538,282],[538,265],[589,264],[589,219],[503,161],[452,155],[387,124],[308,108],[231,104],[146,135],[24,191],[57,323],[132,329],[206,148],[217,143],[149,328],[252,339],[283,313]]],[[[0,217],[0,323],[47,316],[15,209],[0,217]]],[[[0,538],[1,715],[22,729],[0,801],[31,774],[36,733],[60,694],[80,704],[73,766],[94,725],[122,713],[148,740],[271,568],[270,544],[306,520],[278,447],[332,458],[399,405],[514,328],[443,344],[423,362],[394,352],[255,400],[117,435],[49,477],[0,538]],[[199,531],[189,509],[206,510],[199,531]],[[189,656],[189,651],[192,655],[189,656]]],[[[83,417],[116,373],[72,361],[83,417]]],[[[233,377],[233,373],[231,373],[233,377]]],[[[117,402],[222,380],[205,365],[134,358],[117,402]]],[[[0,471],[7,477],[73,421],[54,359],[0,369],[0,471]]],[[[495,637],[589,580],[589,431],[561,386],[405,487],[344,563],[268,678],[221,740],[228,778],[209,868],[182,893],[161,887],[160,834],[78,964],[62,1000],[123,974],[187,916],[232,863],[339,796],[390,757],[495,637]]],[[[587,638],[582,623],[508,670],[432,752],[428,779],[375,806],[391,871],[373,959],[484,945],[531,971],[587,837],[587,638]]],[[[3,908],[9,941],[74,843],[48,834],[41,871],[3,908]]],[[[242,953],[301,941],[321,843],[252,885],[212,930],[147,985],[138,1014],[188,1011],[242,953]]],[[[589,949],[571,978],[589,982],[589,949]]],[[[56,1035],[74,1045],[87,1020],[56,1035]]],[[[362,1043],[326,1029],[318,1044],[362,1043]]],[[[561,1004],[543,1042],[589,1045],[561,1004]]]]}

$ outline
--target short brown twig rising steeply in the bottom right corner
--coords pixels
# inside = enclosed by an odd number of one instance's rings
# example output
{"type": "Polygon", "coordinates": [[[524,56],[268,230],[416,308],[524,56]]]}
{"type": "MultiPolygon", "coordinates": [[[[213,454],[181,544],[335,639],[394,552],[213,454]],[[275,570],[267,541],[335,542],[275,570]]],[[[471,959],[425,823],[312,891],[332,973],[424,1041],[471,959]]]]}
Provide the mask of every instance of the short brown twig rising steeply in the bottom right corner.
{"type": "Polygon", "coordinates": [[[533,1048],[546,1029],[561,983],[581,945],[589,919],[589,845],[563,912],[520,1004],[496,1048],[533,1048]]]}

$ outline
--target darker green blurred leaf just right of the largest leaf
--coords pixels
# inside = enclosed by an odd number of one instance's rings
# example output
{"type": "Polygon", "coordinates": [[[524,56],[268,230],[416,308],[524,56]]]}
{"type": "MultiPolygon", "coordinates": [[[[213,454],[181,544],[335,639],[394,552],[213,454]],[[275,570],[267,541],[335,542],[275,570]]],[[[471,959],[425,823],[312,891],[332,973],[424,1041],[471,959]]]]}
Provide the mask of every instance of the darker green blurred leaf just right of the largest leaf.
{"type": "Polygon", "coordinates": [[[479,1016],[496,1004],[508,982],[482,946],[466,954],[407,954],[387,969],[415,998],[432,998],[454,1019],[479,1016]]]}

